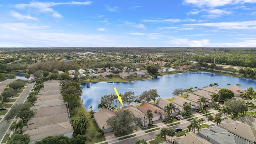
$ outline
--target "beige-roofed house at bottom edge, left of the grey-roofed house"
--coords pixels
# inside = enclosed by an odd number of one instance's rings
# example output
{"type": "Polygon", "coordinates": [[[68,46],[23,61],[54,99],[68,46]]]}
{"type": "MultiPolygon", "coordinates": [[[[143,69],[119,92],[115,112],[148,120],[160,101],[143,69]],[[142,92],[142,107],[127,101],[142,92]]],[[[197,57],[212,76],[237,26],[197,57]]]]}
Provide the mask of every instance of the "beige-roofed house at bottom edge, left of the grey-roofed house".
{"type": "Polygon", "coordinates": [[[174,144],[211,144],[194,132],[188,132],[184,136],[174,138],[174,144]]]}

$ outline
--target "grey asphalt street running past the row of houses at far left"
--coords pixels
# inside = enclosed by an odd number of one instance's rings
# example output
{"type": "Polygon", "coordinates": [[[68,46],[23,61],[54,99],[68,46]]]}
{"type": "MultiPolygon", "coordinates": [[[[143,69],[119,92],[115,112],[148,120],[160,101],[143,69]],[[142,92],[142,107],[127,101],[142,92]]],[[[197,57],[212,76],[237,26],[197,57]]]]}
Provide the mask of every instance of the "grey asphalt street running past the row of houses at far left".
{"type": "MultiPolygon", "coordinates": [[[[32,87],[34,86],[35,83],[28,85],[23,92],[20,94],[19,98],[16,100],[14,105],[17,104],[23,104],[23,102],[26,100],[26,97],[28,96],[28,93],[30,92],[30,90],[32,89],[32,87]]],[[[2,137],[4,136],[4,134],[6,133],[6,131],[8,130],[9,126],[12,124],[12,120],[11,119],[9,122],[7,122],[5,120],[5,118],[0,122],[0,140],[2,139],[2,137]]]]}

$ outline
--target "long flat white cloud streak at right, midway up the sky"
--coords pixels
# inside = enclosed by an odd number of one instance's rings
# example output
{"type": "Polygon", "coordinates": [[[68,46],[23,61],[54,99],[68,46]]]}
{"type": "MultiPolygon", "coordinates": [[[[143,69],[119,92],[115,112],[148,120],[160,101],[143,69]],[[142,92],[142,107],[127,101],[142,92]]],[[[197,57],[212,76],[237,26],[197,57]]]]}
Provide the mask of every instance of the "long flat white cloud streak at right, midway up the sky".
{"type": "Polygon", "coordinates": [[[256,20],[244,22],[211,22],[200,24],[183,24],[183,26],[208,26],[228,30],[256,30],[256,20]]]}

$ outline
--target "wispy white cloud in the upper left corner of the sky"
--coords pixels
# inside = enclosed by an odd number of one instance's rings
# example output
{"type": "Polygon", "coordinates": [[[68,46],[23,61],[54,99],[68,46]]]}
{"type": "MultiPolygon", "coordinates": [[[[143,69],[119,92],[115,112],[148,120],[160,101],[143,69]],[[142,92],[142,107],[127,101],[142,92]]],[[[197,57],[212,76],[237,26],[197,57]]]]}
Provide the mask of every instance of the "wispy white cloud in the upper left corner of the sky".
{"type": "Polygon", "coordinates": [[[40,12],[40,13],[52,12],[53,17],[60,18],[61,14],[58,14],[58,12],[53,10],[51,7],[58,6],[58,5],[90,5],[91,3],[92,2],[90,2],[90,1],[87,1],[87,2],[38,2],[38,1],[32,1],[29,4],[15,4],[13,6],[18,9],[28,8],[31,11],[36,11],[36,12],[40,12]]]}

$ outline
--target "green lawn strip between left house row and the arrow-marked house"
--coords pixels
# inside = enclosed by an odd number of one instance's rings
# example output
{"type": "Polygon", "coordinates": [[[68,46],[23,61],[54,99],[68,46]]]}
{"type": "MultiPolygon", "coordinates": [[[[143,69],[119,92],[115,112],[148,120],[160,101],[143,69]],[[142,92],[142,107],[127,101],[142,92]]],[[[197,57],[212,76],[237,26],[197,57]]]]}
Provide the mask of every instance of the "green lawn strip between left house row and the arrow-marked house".
{"type": "Polygon", "coordinates": [[[84,106],[82,105],[82,102],[81,102],[81,107],[78,108],[78,112],[75,111],[75,114],[71,117],[71,119],[78,117],[79,112],[83,112],[89,121],[89,127],[86,130],[85,136],[87,136],[90,140],[87,140],[86,144],[94,144],[94,143],[102,142],[102,141],[106,140],[106,138],[104,136],[99,137],[97,135],[97,130],[99,127],[98,127],[96,121],[91,118],[90,112],[88,112],[88,110],[86,110],[84,108],[84,106]]]}

